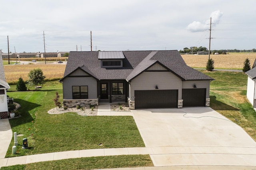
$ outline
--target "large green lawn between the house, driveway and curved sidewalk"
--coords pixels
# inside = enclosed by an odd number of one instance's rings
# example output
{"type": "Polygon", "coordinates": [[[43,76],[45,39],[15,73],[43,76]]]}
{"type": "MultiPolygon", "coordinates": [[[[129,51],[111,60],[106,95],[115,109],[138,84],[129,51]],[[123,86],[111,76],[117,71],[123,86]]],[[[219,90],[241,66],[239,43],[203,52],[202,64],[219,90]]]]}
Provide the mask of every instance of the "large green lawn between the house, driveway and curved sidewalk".
{"type": "Polygon", "coordinates": [[[145,147],[132,116],[48,114],[48,110],[56,107],[52,100],[55,93],[62,98],[62,84],[58,81],[46,82],[37,91],[16,92],[15,88],[11,86],[8,95],[21,104],[22,117],[10,119],[10,125],[13,132],[23,136],[18,137],[16,155],[12,155],[12,139],[6,157],[66,150],[145,147]],[[28,139],[29,149],[22,149],[23,138],[28,139]]]}

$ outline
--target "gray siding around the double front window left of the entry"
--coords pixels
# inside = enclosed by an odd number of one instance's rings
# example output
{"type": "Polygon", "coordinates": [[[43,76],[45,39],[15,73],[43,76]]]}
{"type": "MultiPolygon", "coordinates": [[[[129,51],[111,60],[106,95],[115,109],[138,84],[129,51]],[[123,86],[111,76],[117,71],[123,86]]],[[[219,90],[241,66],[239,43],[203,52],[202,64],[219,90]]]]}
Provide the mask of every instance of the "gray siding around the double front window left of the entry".
{"type": "Polygon", "coordinates": [[[88,99],[97,99],[97,81],[93,77],[67,77],[63,80],[63,99],[72,99],[72,86],[88,86],[88,99]]]}

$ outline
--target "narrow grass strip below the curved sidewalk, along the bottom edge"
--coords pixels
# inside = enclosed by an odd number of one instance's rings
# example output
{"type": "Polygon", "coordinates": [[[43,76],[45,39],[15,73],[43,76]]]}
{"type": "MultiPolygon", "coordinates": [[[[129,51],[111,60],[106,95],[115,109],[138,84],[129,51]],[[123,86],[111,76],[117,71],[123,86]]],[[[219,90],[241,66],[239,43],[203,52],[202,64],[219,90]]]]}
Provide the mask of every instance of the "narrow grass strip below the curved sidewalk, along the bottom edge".
{"type": "Polygon", "coordinates": [[[99,156],[36,162],[2,167],[1,170],[91,170],[154,166],[149,155],[99,156]]]}

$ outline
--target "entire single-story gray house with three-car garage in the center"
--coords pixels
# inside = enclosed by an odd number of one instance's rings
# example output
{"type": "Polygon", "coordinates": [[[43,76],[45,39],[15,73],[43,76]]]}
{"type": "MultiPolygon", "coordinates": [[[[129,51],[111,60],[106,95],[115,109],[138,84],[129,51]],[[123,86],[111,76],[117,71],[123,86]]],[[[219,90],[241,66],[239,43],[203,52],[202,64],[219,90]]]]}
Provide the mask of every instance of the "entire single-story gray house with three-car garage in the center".
{"type": "Polygon", "coordinates": [[[122,100],[130,109],[210,106],[213,78],[171,51],[71,51],[60,80],[63,104],[122,100]]]}

